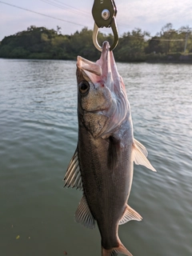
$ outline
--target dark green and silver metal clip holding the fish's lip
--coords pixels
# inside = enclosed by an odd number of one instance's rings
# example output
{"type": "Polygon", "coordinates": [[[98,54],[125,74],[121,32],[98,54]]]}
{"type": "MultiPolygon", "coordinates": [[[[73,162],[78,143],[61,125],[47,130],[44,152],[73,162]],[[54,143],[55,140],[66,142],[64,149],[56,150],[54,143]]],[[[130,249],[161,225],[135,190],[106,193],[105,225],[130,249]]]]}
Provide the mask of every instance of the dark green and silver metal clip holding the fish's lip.
{"type": "Polygon", "coordinates": [[[94,46],[102,51],[102,46],[98,44],[98,28],[104,26],[111,27],[114,33],[114,42],[112,46],[110,46],[110,50],[114,50],[118,44],[118,28],[116,23],[117,8],[114,0],[94,0],[92,14],[94,17],[94,46]]]}

